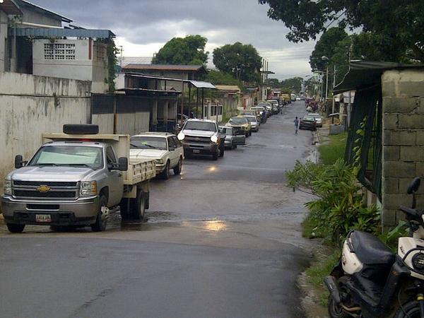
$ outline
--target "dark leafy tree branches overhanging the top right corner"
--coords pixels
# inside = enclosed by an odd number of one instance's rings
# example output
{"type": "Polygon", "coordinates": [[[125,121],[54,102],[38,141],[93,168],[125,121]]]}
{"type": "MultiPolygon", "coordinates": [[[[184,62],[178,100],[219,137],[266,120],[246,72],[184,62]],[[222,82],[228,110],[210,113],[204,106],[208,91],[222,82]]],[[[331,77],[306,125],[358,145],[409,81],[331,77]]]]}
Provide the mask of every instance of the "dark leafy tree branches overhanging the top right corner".
{"type": "Polygon", "coordinates": [[[315,40],[334,24],[372,35],[378,40],[373,46],[383,44],[382,55],[392,61],[424,61],[424,1],[259,0],[259,4],[268,4],[269,18],[282,20],[290,29],[291,42],[315,40]]]}

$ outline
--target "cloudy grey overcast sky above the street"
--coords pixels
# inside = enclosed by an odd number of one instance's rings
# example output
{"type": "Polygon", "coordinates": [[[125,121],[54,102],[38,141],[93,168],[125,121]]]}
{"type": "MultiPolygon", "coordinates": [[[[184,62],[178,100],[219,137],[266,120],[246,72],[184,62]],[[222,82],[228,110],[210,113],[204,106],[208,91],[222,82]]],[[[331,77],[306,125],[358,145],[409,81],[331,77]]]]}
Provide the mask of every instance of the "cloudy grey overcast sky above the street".
{"type": "MultiPolygon", "coordinates": [[[[112,30],[124,57],[151,58],[172,37],[199,34],[206,50],[234,42],[252,44],[279,79],[307,76],[314,42],[293,44],[282,22],[266,16],[257,0],[30,0],[85,28],[112,30]]],[[[140,59],[140,61],[147,59],[140,59]]]]}

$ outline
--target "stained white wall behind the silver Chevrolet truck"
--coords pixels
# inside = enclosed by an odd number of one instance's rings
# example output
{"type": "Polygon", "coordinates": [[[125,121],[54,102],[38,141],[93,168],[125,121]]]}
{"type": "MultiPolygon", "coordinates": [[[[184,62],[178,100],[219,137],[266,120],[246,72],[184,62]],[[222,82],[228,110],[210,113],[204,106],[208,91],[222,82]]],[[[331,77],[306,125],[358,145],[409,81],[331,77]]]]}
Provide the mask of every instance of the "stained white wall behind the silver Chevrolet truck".
{"type": "Polygon", "coordinates": [[[90,121],[90,82],[0,73],[0,192],[15,155],[28,160],[43,132],[90,121]]]}

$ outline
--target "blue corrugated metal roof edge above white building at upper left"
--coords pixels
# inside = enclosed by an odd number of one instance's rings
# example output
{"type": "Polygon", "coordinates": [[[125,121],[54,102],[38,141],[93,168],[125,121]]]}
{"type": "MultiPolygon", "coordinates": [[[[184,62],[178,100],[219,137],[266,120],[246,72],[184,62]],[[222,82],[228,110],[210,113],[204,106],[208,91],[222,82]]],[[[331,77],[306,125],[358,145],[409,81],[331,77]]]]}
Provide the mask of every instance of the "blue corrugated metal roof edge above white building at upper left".
{"type": "Polygon", "coordinates": [[[107,39],[115,37],[110,30],[90,30],[90,29],[58,29],[58,28],[9,28],[9,35],[18,37],[96,37],[107,39]]]}

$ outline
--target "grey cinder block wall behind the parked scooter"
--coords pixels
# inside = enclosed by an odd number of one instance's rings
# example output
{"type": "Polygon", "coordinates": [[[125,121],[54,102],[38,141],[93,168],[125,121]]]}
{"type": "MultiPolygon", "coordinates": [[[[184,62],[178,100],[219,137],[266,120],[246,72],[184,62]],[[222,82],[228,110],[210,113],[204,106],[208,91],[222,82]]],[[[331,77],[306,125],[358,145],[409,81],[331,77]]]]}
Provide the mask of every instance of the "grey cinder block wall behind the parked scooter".
{"type": "Polygon", "coordinates": [[[411,206],[406,189],[414,177],[423,178],[424,208],[424,69],[384,72],[382,97],[382,224],[390,227],[404,218],[399,205],[411,206]]]}

